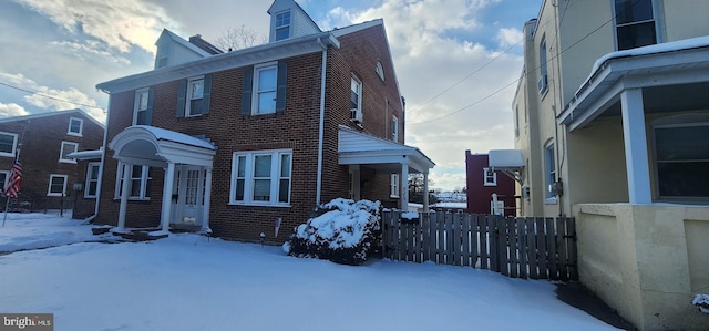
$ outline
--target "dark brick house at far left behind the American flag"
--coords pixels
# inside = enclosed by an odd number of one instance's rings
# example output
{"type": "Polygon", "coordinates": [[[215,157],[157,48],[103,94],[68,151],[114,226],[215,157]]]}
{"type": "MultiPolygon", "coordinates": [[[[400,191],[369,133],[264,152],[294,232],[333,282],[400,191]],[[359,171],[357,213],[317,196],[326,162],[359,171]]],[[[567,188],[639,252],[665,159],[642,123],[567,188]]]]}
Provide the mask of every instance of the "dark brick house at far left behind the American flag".
{"type": "Polygon", "coordinates": [[[29,210],[74,208],[73,216],[78,218],[86,216],[82,210],[93,214],[96,187],[85,189],[80,178],[85,177],[88,167],[96,165],[78,164],[69,154],[99,149],[103,135],[104,126],[81,110],[0,120],[2,187],[7,185],[17,154],[22,164],[20,193],[11,207],[29,210]],[[81,187],[74,189],[74,184],[81,187]]]}

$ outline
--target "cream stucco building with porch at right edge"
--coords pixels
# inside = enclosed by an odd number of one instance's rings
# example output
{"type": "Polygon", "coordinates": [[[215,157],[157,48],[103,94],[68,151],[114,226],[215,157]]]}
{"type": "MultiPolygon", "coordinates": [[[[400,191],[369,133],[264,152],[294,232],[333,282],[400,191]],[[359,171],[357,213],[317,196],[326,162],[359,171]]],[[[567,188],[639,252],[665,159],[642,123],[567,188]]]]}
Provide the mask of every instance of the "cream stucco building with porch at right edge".
{"type": "Polygon", "coordinates": [[[576,217],[580,280],[641,330],[708,330],[707,1],[543,1],[513,102],[525,216],[576,217]]]}

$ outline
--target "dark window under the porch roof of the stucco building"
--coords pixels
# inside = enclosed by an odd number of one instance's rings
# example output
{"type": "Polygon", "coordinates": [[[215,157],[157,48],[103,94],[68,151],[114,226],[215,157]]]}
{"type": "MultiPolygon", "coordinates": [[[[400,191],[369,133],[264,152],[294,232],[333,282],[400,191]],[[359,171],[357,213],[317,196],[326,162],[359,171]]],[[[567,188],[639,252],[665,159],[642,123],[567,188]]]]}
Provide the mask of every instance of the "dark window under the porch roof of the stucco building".
{"type": "Polygon", "coordinates": [[[655,128],[657,159],[709,161],[709,126],[655,128]]]}

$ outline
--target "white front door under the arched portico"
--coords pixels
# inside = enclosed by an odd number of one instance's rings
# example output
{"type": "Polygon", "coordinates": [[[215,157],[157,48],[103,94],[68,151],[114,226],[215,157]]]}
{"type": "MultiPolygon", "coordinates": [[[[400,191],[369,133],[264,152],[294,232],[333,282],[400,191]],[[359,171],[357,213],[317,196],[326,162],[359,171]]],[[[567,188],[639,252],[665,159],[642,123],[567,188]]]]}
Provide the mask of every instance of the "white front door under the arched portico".
{"type": "Polygon", "coordinates": [[[202,225],[204,208],[204,169],[199,166],[183,165],[175,175],[176,204],[173,223],[202,225]]]}

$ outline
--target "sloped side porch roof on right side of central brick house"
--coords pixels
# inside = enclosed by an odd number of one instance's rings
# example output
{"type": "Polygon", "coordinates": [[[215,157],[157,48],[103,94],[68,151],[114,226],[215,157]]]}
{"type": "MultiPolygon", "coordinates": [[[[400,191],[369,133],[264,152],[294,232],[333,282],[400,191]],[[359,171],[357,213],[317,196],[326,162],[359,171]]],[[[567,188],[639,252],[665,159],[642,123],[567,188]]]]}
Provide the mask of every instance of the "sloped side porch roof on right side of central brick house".
{"type": "Polygon", "coordinates": [[[339,127],[338,138],[338,163],[341,165],[367,165],[392,172],[408,165],[411,173],[423,174],[435,166],[417,147],[360,133],[343,125],[339,127]]]}

